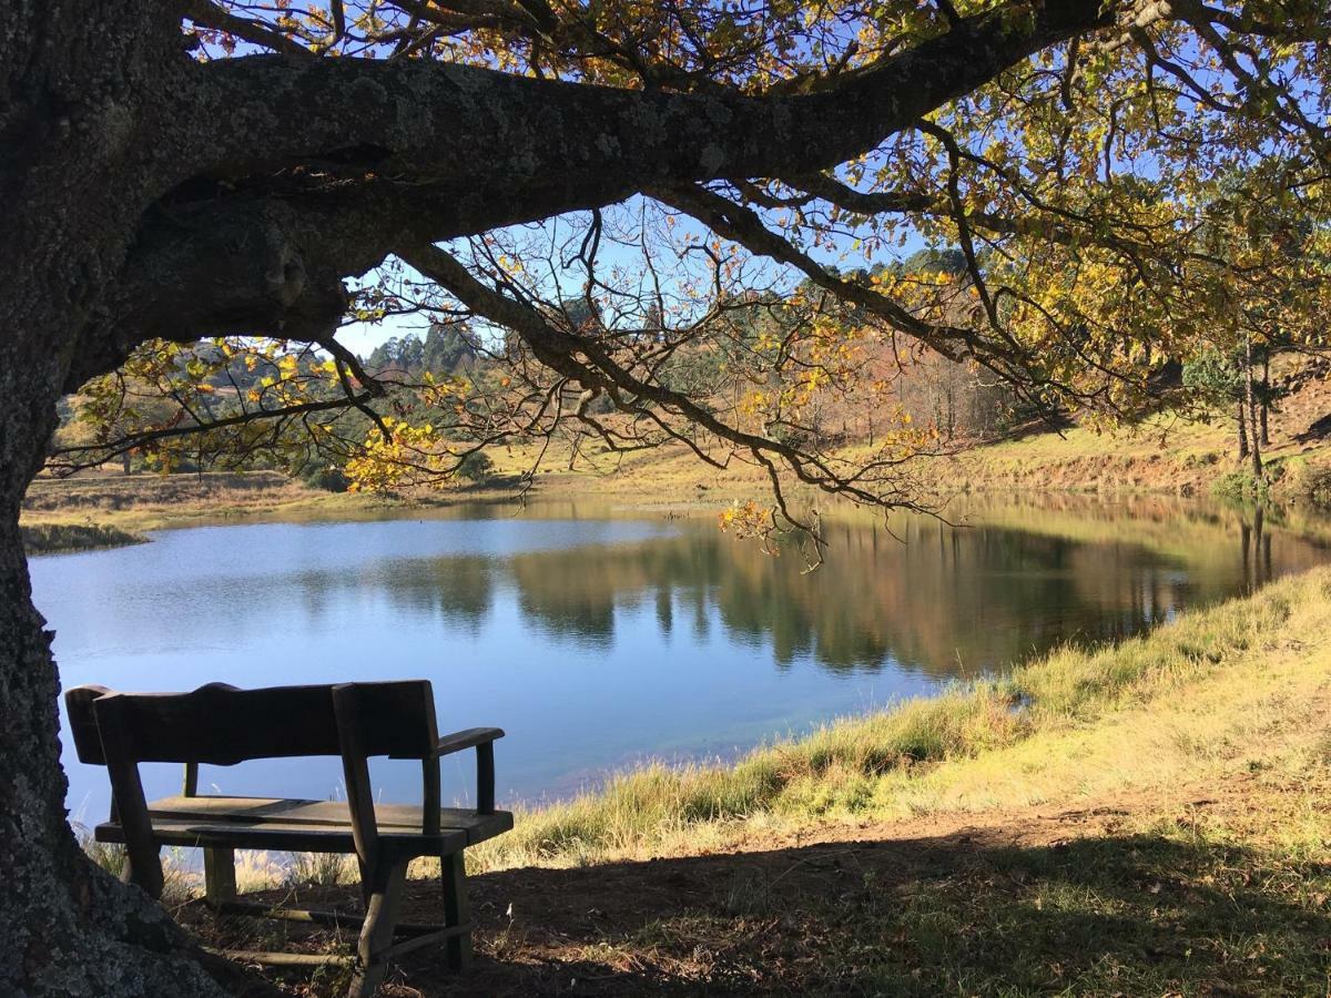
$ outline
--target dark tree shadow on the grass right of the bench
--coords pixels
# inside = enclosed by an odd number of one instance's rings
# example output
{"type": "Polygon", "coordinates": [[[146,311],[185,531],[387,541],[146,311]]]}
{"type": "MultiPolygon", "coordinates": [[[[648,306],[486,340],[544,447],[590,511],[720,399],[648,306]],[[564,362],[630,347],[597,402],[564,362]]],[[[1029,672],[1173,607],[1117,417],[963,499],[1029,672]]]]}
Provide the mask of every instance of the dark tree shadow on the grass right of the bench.
{"type": "MultiPolygon", "coordinates": [[[[1058,828],[486,874],[474,969],[413,954],[386,993],[1326,993],[1327,865],[1058,828]]],[[[407,909],[437,915],[437,889],[407,909]]]]}

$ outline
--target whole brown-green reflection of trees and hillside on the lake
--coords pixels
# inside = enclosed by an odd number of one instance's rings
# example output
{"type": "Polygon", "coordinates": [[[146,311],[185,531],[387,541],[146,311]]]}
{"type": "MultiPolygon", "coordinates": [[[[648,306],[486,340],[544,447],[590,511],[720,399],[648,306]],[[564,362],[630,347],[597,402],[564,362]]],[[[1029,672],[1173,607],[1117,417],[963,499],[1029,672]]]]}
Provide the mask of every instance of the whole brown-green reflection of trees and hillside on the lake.
{"type": "Polygon", "coordinates": [[[732,640],[769,645],[780,667],[811,657],[832,671],[890,663],[953,676],[1066,640],[1119,640],[1187,605],[1259,585],[1276,568],[1324,560],[1286,535],[1272,552],[1264,527],[1260,514],[1205,527],[1189,520],[1182,559],[1134,543],[1142,522],[1131,519],[1121,542],[1103,531],[1094,542],[1073,542],[928,518],[894,524],[896,536],[881,526],[831,523],[825,564],[801,575],[799,558],[771,558],[709,526],[685,524],[675,536],[642,543],[498,560],[395,560],[297,582],[315,612],[330,589],[365,588],[476,631],[496,589],[512,587],[519,612],[543,633],[595,648],[614,640],[616,612],[640,609],[655,615],[662,633],[687,628],[699,641],[719,623],[732,640]]]}

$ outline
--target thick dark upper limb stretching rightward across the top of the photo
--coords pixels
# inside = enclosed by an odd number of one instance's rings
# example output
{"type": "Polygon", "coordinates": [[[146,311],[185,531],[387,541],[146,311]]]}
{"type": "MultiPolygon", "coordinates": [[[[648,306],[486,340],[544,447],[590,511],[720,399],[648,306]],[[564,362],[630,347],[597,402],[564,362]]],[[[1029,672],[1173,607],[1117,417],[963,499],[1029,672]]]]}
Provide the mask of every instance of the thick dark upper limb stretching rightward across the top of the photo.
{"type": "Polygon", "coordinates": [[[196,170],[329,154],[382,173],[510,189],[580,170],[644,185],[833,166],[1041,49],[1113,23],[1101,0],[1008,3],[791,97],[632,92],[425,60],[245,56],[197,67],[196,170]],[[299,108],[301,113],[282,113],[299,108]]]}

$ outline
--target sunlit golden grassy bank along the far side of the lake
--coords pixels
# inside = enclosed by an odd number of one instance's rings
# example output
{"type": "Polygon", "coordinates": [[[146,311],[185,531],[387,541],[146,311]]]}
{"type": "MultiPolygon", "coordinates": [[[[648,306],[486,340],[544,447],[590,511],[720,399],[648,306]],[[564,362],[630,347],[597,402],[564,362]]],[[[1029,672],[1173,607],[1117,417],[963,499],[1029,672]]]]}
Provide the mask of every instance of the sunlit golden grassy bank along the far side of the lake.
{"type": "MultiPolygon", "coordinates": [[[[683,446],[624,456],[584,443],[570,468],[568,455],[556,442],[530,487],[523,488],[522,476],[532,468],[538,450],[535,443],[496,448],[488,480],[401,496],[323,492],[269,471],[43,479],[29,488],[23,522],[33,528],[95,524],[142,532],[253,520],[357,519],[465,503],[516,503],[523,496],[648,515],[709,514],[736,499],[769,498],[760,470],[731,462],[717,471],[683,446]]],[[[1271,498],[1280,508],[1291,508],[1311,484],[1320,482],[1324,492],[1331,482],[1331,448],[1322,440],[1282,438],[1267,459],[1275,479],[1271,498]]],[[[924,462],[921,474],[937,482],[934,499],[946,500],[968,494],[1207,498],[1218,483],[1246,472],[1233,454],[1226,427],[1157,419],[1115,435],[1073,427],[1062,435],[1040,432],[977,444],[957,456],[924,462]]],[[[825,496],[811,498],[820,506],[827,503],[825,496]]]]}

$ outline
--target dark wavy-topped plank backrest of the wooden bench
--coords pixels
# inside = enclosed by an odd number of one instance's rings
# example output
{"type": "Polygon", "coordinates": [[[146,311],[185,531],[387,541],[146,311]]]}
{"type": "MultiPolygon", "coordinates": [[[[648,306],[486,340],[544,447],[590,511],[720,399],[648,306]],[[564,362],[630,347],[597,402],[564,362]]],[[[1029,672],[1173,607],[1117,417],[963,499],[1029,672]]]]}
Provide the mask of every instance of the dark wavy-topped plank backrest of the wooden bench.
{"type": "MultiPolygon", "coordinates": [[[[361,753],[425,758],[434,752],[438,731],[429,680],[349,685],[355,691],[361,753]]],[[[234,765],[249,758],[342,754],[333,689],[237,689],[210,683],[190,693],[114,693],[105,687],[76,687],[65,693],[65,705],[83,762],[106,765],[101,727],[112,720],[116,754],[125,761],[234,765]]]]}

